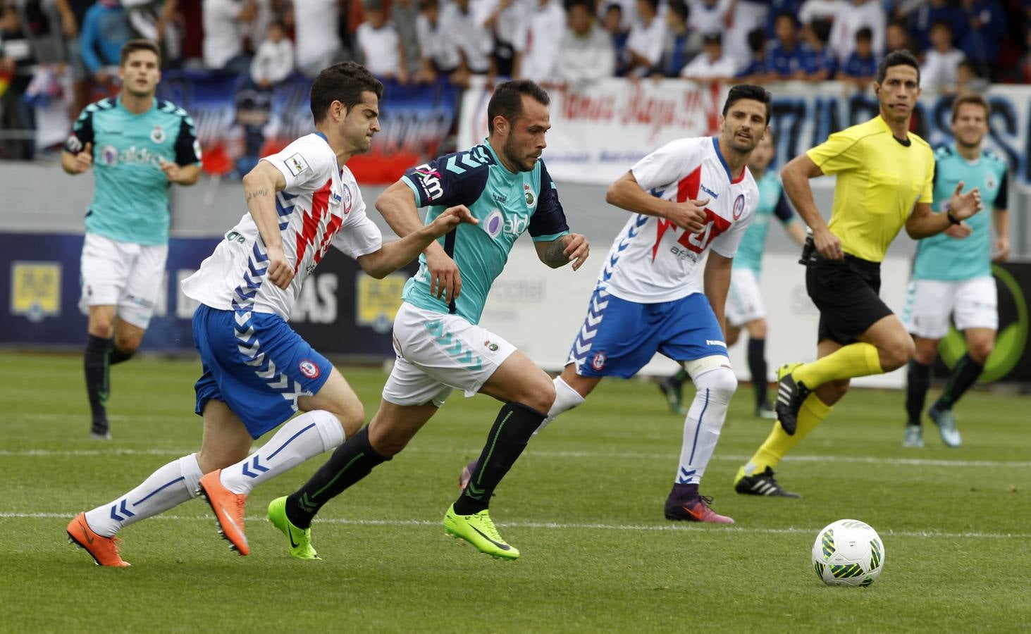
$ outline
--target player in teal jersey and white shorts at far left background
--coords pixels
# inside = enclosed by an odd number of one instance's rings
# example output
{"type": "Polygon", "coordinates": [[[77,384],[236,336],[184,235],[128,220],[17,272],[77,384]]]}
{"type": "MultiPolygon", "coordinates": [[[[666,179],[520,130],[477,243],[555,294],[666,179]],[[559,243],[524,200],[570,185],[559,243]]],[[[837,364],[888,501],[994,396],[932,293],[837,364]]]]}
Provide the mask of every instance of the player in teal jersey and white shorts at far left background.
{"type": "Polygon", "coordinates": [[[91,438],[110,439],[105,403],[108,370],[139,347],[168,255],[168,189],[200,175],[200,144],[186,110],[155,93],[161,80],[157,44],[122,47],[122,92],[82,110],[61,155],[72,175],[91,167],[93,200],[86,212],[79,301],[89,313],[85,353],[91,438]]]}

